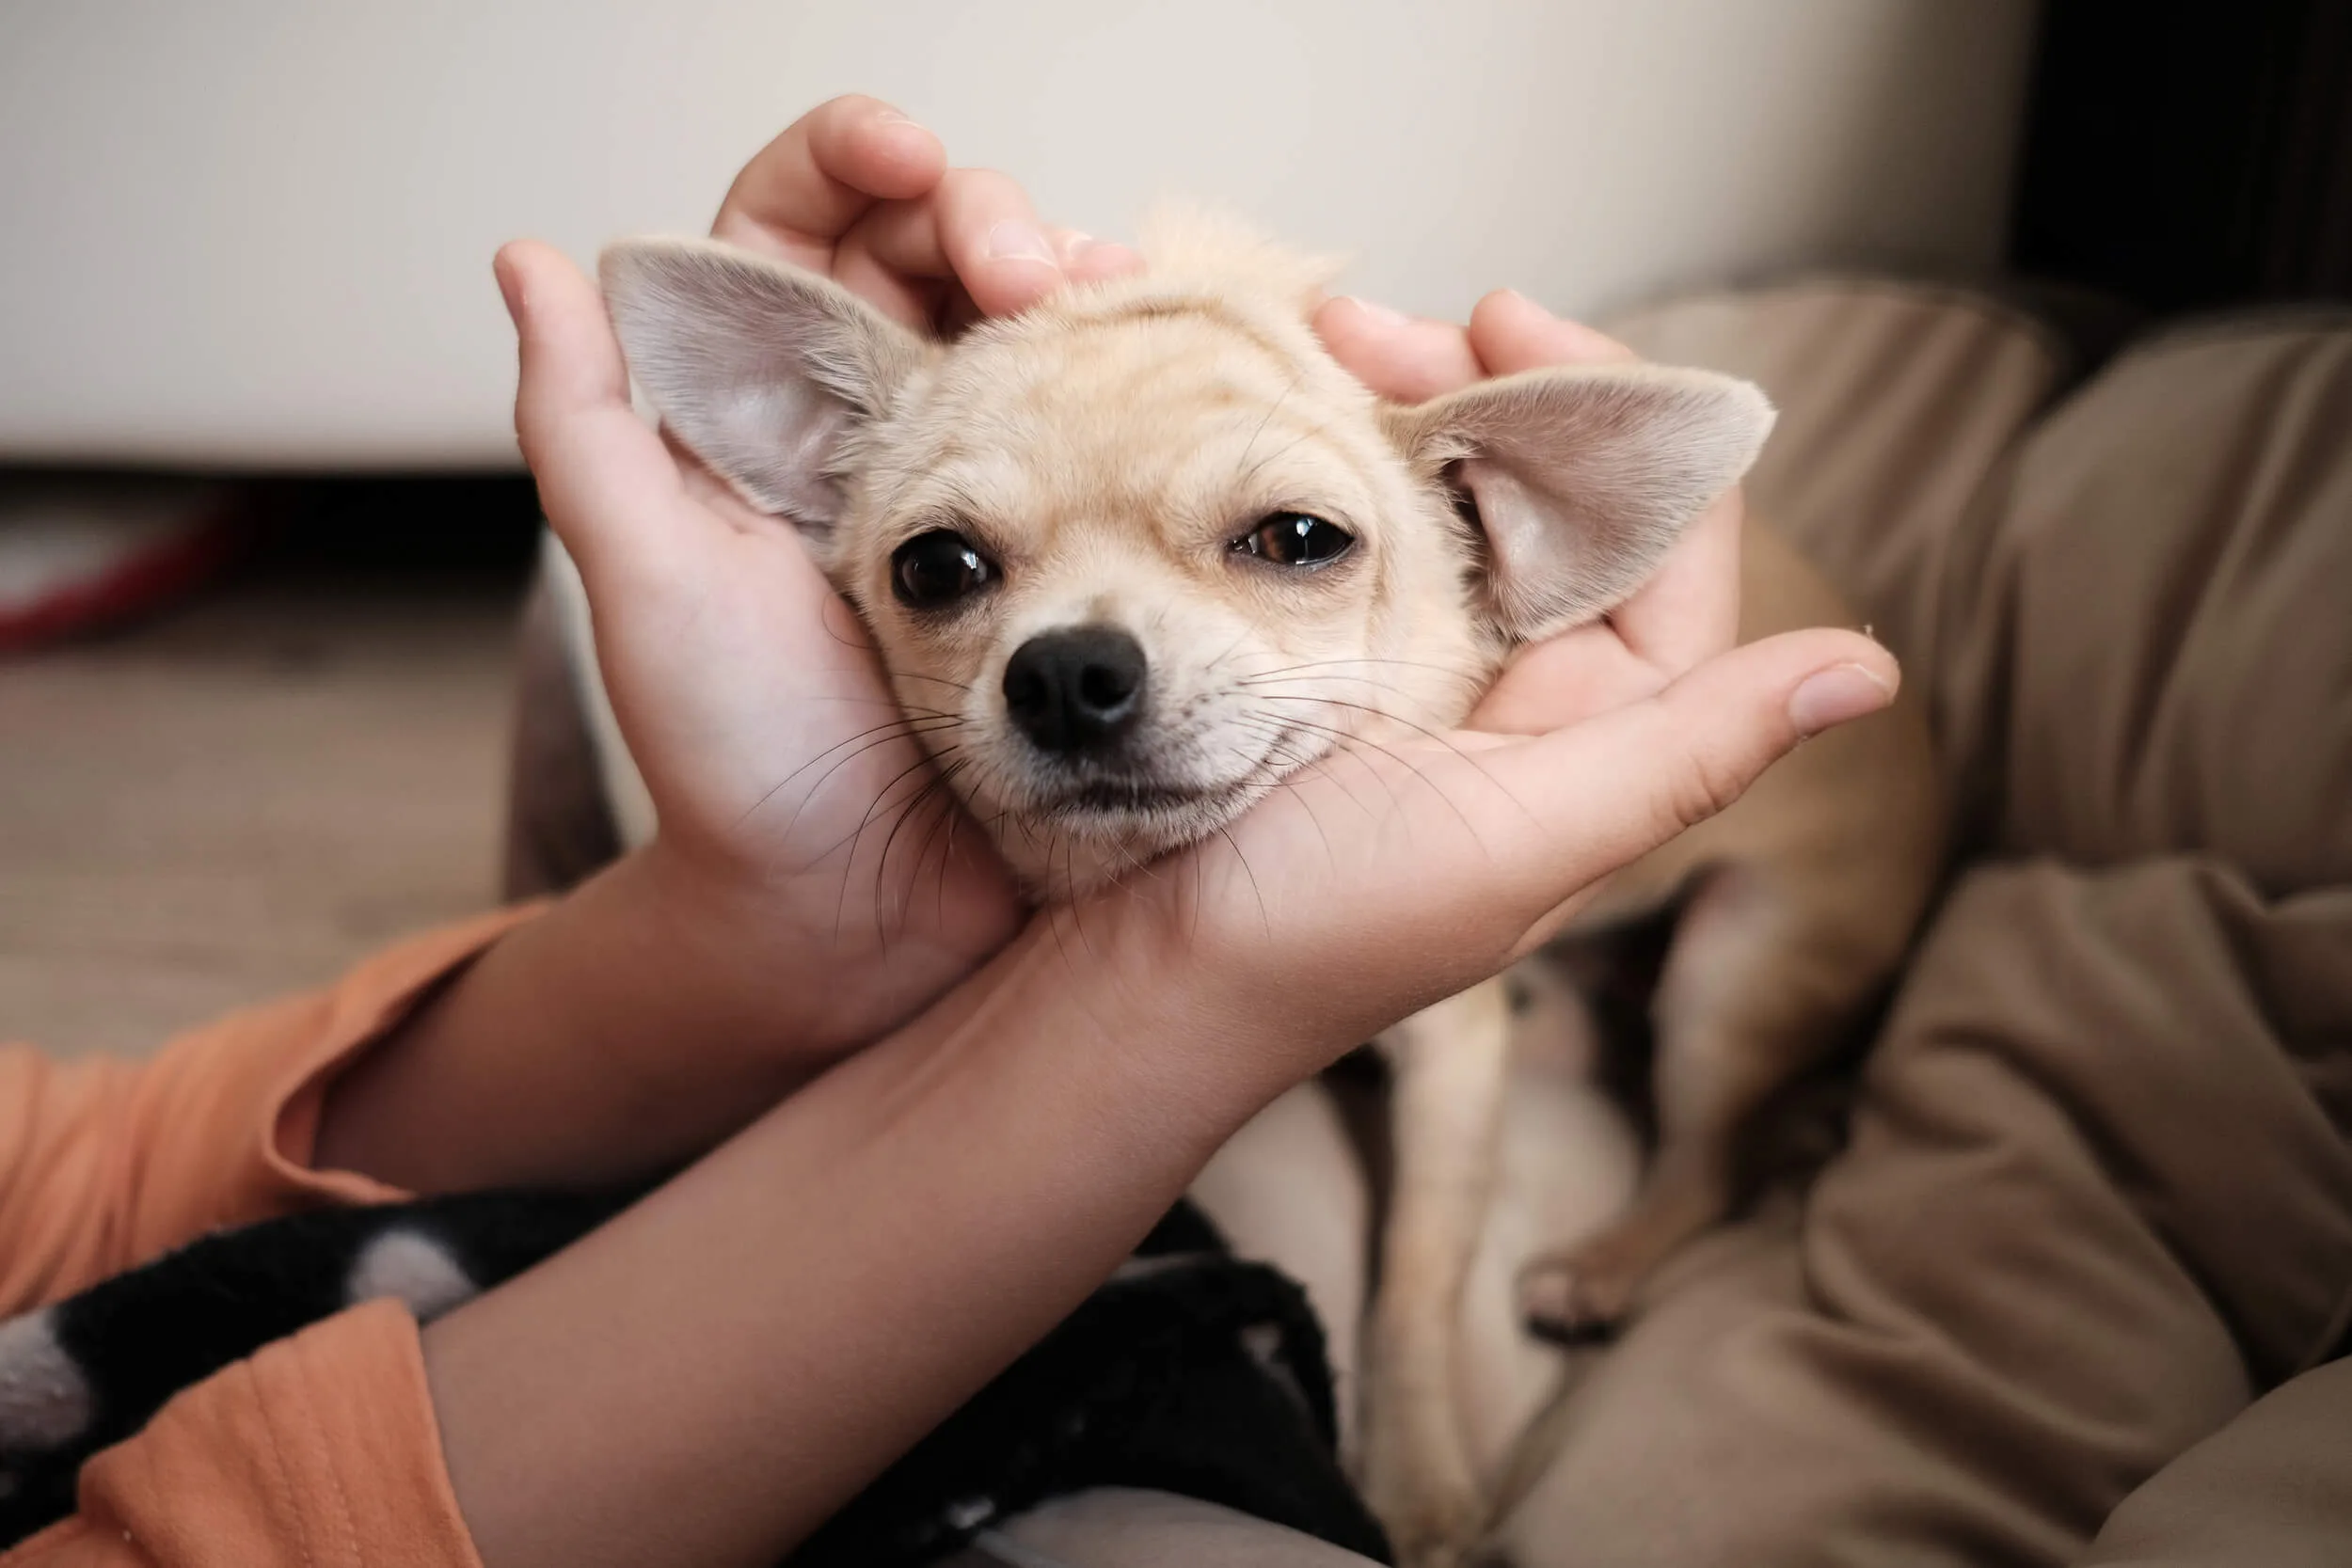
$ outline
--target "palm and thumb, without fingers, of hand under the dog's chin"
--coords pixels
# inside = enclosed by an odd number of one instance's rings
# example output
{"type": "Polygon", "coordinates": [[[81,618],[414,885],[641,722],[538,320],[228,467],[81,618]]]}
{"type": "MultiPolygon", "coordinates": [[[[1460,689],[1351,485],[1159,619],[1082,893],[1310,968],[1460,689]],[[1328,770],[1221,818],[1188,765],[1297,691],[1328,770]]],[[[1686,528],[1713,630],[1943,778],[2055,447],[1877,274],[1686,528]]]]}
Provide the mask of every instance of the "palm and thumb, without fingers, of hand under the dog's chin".
{"type": "Polygon", "coordinates": [[[1472,717],[1343,743],[1225,832],[1040,922],[1105,1025],[1185,1009],[1247,1112],[1526,957],[1609,872],[1896,682],[1893,656],[1846,630],[1766,637],[1602,705],[1522,682],[1524,733],[1472,717]]]}

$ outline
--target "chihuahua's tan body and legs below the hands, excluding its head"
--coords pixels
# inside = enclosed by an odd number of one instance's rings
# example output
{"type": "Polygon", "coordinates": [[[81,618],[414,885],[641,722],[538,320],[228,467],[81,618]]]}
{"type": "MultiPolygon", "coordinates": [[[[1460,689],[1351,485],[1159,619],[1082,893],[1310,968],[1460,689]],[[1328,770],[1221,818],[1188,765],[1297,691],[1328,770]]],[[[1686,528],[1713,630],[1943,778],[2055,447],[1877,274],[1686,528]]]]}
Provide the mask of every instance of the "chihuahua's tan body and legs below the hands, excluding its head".
{"type": "MultiPolygon", "coordinates": [[[[1769,529],[1748,534],[1740,590],[1743,642],[1846,621],[1837,590],[1769,529]]],[[[1613,1324],[1668,1253],[1726,1213],[1736,1143],[1755,1112],[1844,1041],[1893,976],[1940,870],[1943,823],[1926,717],[1898,698],[1797,748],[1576,914],[1569,940],[1679,900],[1651,1001],[1656,1150],[1623,1213],[1522,1265],[1522,1316],[1555,1331],[1613,1324]]],[[[1359,1467],[1409,1563],[1461,1561],[1496,1523],[1498,1476],[1482,1474],[1470,1436],[1484,1413],[1461,1366],[1479,1354],[1463,1342],[1463,1291],[1515,1088],[1515,978],[1383,1041],[1397,1060],[1395,1182],[1359,1467]]]]}

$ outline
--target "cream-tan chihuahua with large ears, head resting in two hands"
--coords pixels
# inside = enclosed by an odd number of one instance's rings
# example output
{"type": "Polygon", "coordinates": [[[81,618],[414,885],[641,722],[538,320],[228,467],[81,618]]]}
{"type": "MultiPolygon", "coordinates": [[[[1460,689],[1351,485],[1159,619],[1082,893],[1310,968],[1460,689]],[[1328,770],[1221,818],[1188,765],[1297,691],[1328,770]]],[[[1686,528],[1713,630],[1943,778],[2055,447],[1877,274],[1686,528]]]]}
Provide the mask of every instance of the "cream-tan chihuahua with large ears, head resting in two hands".
{"type": "MultiPolygon", "coordinates": [[[[934,752],[953,738],[941,776],[1040,900],[1218,832],[1294,769],[1461,722],[1515,646],[1621,604],[1773,418],[1743,381],[1663,367],[1388,404],[1308,324],[1327,263],[1202,214],[1164,216],[1145,254],[1138,277],[953,343],[713,242],[602,259],[640,390],[804,534],[924,715],[910,729],[934,752]]],[[[1764,536],[1748,588],[1752,630],[1849,618],[1764,536]]],[[[1656,1001],[1658,1147],[1621,1220],[1529,1269],[1531,1314],[1613,1319],[1731,1204],[1750,1110],[1910,938],[1931,778],[1907,708],[1832,731],[1581,917],[1684,900],[1656,1001]]],[[[623,804],[642,802],[630,783],[623,804]]],[[[642,806],[628,816],[644,837],[642,806]]],[[[1381,1041],[1397,1168],[1359,1465],[1416,1566],[1458,1561],[1486,1523],[1456,1331],[1508,1039],[1496,980],[1381,1041]]]]}

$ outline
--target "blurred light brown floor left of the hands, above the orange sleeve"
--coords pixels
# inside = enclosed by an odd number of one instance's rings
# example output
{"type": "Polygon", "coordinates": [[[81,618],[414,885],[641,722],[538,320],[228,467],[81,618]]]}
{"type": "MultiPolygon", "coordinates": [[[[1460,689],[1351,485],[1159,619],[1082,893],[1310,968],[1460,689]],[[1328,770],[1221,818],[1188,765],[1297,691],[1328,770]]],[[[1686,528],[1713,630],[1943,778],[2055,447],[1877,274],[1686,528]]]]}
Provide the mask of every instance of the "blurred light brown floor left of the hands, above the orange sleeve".
{"type": "Polygon", "coordinates": [[[146,1051],[489,905],[517,592],[245,574],[0,661],[0,1039],[146,1051]]]}

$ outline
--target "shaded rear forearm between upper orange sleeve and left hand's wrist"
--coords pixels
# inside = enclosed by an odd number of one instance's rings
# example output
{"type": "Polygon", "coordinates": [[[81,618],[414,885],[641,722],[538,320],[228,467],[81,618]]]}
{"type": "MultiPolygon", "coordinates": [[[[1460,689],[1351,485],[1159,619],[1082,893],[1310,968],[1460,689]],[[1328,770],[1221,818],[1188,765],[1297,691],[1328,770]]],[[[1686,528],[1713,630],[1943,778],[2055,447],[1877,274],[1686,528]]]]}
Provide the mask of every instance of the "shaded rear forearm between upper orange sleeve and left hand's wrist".
{"type": "Polygon", "coordinates": [[[647,851],[459,973],[329,1091],[313,1150],[416,1192],[628,1180],[837,1051],[821,938],[647,851]]]}

